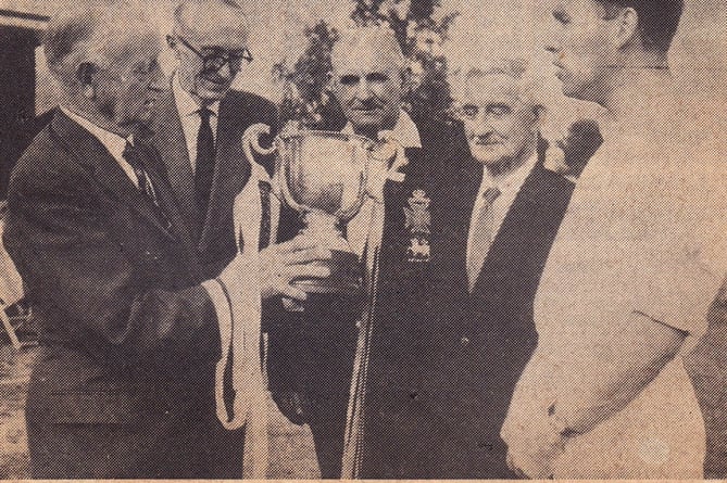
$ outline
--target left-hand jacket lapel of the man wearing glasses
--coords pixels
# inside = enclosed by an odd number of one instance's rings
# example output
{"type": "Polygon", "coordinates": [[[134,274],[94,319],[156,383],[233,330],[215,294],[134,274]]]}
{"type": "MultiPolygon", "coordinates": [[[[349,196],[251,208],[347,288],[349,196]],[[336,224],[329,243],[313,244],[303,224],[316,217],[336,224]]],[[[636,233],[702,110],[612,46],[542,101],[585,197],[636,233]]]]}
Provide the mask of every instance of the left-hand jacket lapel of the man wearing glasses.
{"type": "Polygon", "coordinates": [[[179,112],[171,89],[160,98],[158,115],[153,144],[162,153],[164,169],[181,216],[187,223],[187,228],[197,237],[200,220],[193,196],[195,173],[189,160],[190,154],[187,153],[187,141],[179,120],[179,112]]]}

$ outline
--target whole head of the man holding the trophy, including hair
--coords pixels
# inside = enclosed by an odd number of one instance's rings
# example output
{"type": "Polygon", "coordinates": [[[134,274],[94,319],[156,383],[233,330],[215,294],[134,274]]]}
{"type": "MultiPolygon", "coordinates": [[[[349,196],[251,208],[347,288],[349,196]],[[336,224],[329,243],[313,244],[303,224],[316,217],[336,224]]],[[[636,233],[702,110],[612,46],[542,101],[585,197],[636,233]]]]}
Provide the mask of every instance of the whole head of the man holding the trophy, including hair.
{"type": "Polygon", "coordinates": [[[124,137],[149,123],[162,86],[161,40],[142,10],[82,2],[51,18],[43,50],[62,103],[77,114],[124,137]]]}

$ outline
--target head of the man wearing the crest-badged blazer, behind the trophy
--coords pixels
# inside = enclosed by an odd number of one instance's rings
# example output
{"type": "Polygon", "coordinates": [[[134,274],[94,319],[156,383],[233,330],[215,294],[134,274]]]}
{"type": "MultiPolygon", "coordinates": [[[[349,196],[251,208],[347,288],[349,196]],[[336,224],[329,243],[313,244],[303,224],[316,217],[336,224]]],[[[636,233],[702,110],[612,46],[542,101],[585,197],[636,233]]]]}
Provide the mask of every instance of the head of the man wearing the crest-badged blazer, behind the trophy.
{"type": "Polygon", "coordinates": [[[344,30],[331,51],[331,82],[354,130],[373,137],[392,129],[406,90],[408,61],[390,29],[344,30]]]}

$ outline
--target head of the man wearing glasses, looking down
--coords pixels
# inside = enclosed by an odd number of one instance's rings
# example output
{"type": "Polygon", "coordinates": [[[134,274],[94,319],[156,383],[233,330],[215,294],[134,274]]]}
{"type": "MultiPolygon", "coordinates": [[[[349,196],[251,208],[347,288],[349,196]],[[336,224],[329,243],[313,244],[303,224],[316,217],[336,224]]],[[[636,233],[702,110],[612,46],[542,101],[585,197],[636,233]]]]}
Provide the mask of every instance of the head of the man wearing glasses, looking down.
{"type": "Polygon", "coordinates": [[[200,103],[222,99],[238,71],[251,60],[248,35],[245,12],[233,0],[179,3],[170,43],[179,60],[177,75],[181,88],[200,103]]]}

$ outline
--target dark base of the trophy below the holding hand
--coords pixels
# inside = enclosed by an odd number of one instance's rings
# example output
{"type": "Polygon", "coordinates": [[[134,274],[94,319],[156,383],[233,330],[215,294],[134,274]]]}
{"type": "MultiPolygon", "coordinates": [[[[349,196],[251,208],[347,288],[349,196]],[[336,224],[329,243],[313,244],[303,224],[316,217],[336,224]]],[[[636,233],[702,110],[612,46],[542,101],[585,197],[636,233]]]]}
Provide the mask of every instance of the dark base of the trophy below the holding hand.
{"type": "Polygon", "coordinates": [[[291,282],[306,293],[353,294],[361,291],[363,271],[359,257],[351,252],[331,250],[330,260],[315,262],[330,268],[327,278],[299,278],[291,282]]]}

